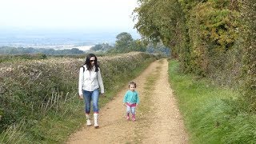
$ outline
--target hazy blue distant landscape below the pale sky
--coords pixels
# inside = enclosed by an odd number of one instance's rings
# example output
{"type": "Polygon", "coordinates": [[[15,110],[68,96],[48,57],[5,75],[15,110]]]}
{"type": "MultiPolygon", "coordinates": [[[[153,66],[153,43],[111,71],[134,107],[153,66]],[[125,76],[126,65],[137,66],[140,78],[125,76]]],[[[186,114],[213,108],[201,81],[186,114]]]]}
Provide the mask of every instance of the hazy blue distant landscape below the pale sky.
{"type": "MultiPolygon", "coordinates": [[[[98,43],[113,44],[121,30],[1,30],[0,46],[49,48],[50,46],[94,46],[98,43]]],[[[134,39],[136,30],[128,30],[134,39]]],[[[51,47],[54,48],[54,47],[51,47]]],[[[64,48],[65,47],[61,47],[64,48]]]]}

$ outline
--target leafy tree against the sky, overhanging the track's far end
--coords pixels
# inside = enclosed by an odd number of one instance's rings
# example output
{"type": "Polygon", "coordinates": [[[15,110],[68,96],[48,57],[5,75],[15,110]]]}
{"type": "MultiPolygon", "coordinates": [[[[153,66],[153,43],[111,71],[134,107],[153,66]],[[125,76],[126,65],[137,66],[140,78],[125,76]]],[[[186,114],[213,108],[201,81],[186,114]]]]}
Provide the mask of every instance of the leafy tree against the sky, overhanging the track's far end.
{"type": "Polygon", "coordinates": [[[178,0],[141,0],[141,6],[134,10],[138,32],[146,42],[163,42],[177,57],[186,41],[185,17],[178,0]]]}

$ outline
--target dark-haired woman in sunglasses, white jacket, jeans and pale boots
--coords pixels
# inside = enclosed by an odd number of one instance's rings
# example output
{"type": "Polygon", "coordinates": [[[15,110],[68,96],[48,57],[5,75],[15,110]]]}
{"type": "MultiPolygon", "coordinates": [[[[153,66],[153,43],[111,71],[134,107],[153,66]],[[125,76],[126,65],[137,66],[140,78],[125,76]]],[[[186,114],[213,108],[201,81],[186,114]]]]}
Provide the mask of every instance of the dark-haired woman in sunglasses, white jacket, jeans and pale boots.
{"type": "Polygon", "coordinates": [[[90,122],[90,101],[93,102],[94,127],[98,128],[98,97],[99,88],[104,94],[102,75],[97,64],[97,57],[94,54],[86,56],[86,63],[80,68],[78,93],[84,99],[86,111],[86,125],[91,126],[90,122]]]}

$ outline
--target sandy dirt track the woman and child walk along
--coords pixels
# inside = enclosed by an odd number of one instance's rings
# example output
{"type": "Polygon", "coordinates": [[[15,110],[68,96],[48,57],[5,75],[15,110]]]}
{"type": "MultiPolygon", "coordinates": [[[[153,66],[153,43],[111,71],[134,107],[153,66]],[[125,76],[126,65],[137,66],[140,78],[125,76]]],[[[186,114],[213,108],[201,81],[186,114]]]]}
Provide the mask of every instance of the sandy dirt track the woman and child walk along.
{"type": "Polygon", "coordinates": [[[134,79],[141,100],[136,122],[125,119],[122,98],[128,90],[126,86],[100,110],[99,129],[85,124],[66,143],[188,143],[167,70],[168,62],[162,59],[151,63],[134,79]]]}

